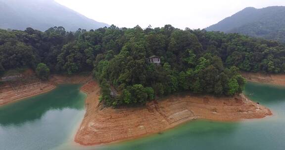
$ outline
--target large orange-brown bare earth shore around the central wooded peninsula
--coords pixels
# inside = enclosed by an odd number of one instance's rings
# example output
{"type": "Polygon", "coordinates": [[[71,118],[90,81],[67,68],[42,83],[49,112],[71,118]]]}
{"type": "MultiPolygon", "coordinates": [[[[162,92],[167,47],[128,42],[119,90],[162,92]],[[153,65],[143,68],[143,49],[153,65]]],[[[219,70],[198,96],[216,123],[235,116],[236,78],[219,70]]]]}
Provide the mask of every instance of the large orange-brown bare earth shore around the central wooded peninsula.
{"type": "Polygon", "coordinates": [[[86,146],[159,133],[197,118],[237,121],[272,115],[269,109],[243,95],[223,98],[176,95],[147,103],[143,107],[113,109],[99,104],[100,88],[97,82],[89,81],[82,91],[88,94],[87,111],[75,142],[86,146]]]}

